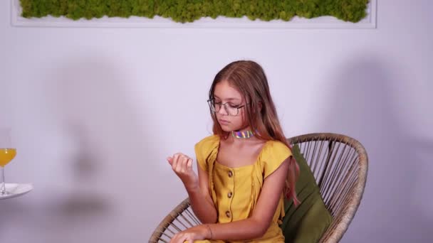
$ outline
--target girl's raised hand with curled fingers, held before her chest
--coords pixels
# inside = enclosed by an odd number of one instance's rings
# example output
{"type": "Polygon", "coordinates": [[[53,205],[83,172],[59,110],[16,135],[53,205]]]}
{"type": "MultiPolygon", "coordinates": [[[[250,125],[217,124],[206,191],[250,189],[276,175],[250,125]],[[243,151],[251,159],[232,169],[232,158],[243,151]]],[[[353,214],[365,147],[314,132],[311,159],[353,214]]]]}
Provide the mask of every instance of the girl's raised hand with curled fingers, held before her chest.
{"type": "Polygon", "coordinates": [[[194,190],[199,187],[199,178],[192,170],[192,158],[183,153],[174,153],[172,157],[167,157],[167,161],[187,190],[194,190]]]}

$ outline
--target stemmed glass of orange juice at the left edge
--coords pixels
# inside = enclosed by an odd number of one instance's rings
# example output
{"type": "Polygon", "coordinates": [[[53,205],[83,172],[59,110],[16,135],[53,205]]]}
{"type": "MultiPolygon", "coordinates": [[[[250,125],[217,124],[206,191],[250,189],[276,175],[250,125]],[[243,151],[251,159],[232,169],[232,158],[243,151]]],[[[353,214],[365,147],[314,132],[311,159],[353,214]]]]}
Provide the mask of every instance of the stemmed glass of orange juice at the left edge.
{"type": "Polygon", "coordinates": [[[0,195],[7,195],[4,179],[4,166],[16,156],[16,148],[11,143],[11,129],[0,129],[0,195]]]}

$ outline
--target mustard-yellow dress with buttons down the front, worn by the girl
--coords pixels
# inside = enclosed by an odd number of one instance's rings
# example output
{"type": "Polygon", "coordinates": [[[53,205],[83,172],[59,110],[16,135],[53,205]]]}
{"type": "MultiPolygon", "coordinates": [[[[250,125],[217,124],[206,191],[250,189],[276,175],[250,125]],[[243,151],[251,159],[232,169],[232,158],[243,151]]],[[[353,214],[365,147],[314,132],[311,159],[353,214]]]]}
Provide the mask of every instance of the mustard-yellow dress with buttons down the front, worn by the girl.
{"type": "MultiPolygon", "coordinates": [[[[219,151],[219,136],[207,136],[195,145],[199,166],[209,175],[209,188],[218,212],[218,222],[244,220],[252,215],[259,200],[264,180],[291,156],[291,150],[281,141],[266,141],[254,164],[230,168],[216,161],[219,151]]],[[[241,242],[284,242],[278,224],[284,216],[283,193],[270,227],[263,237],[241,242]]],[[[194,242],[224,242],[203,240],[194,242]]]]}

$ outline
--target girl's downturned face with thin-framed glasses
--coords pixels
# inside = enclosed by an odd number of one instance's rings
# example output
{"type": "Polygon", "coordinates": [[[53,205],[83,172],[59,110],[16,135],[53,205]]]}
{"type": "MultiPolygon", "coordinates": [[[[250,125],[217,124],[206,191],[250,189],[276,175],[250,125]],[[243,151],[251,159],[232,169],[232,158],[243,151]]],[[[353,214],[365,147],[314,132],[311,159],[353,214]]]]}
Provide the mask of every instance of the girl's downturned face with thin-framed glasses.
{"type": "Polygon", "coordinates": [[[215,107],[219,108],[215,112],[216,119],[224,131],[246,128],[245,101],[241,93],[231,87],[228,81],[224,80],[215,85],[214,99],[215,107]]]}

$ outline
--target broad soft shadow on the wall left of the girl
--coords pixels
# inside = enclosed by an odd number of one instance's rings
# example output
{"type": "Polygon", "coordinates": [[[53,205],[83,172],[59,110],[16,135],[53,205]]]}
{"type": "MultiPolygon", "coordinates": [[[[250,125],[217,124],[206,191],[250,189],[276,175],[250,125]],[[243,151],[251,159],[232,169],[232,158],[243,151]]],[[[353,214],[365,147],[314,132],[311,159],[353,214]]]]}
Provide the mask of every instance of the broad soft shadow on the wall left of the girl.
{"type": "Polygon", "coordinates": [[[146,163],[156,159],[157,131],[140,122],[137,112],[146,111],[130,104],[127,75],[98,56],[63,59],[50,70],[43,95],[67,149],[62,174],[46,176],[61,181],[38,185],[50,195],[39,205],[1,202],[0,231],[7,221],[17,232],[28,229],[33,242],[138,242],[137,230],[150,232],[142,229],[148,220],[142,208],[158,189],[147,186],[158,178],[146,163]]]}

